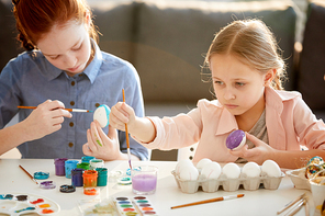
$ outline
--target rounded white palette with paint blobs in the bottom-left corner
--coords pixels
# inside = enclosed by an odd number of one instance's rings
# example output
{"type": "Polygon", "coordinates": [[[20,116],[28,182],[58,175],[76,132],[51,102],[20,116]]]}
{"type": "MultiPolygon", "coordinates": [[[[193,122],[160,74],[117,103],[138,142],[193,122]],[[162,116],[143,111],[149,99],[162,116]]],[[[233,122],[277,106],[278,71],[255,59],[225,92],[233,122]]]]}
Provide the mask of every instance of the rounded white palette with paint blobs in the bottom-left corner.
{"type": "Polygon", "coordinates": [[[14,193],[0,194],[0,214],[19,216],[27,213],[38,215],[55,215],[60,211],[59,205],[44,196],[14,193]]]}

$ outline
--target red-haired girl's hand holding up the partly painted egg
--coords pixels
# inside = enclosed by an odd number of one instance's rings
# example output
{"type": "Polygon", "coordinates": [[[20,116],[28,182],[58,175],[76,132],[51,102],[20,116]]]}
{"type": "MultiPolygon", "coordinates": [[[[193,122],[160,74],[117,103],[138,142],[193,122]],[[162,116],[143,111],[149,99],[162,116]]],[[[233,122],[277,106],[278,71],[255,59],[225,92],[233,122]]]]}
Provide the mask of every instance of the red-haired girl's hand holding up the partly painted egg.
{"type": "Polygon", "coordinates": [[[88,143],[82,146],[85,155],[103,160],[121,159],[117,132],[111,125],[109,125],[109,133],[105,135],[99,123],[92,122],[90,129],[87,130],[87,140],[88,143]]]}

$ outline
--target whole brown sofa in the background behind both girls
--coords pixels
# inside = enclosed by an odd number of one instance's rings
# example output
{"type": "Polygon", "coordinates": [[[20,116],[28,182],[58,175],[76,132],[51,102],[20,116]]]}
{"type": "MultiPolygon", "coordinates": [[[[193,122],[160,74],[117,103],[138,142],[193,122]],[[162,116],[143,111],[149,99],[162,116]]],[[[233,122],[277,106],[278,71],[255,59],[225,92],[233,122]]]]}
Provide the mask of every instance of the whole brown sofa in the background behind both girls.
{"type": "MultiPolygon", "coordinates": [[[[274,33],[287,62],[287,90],[299,90],[323,116],[325,100],[324,8],[311,2],[299,11],[285,1],[186,1],[186,0],[88,0],[101,33],[99,46],[132,62],[138,71],[146,115],[188,112],[199,99],[214,99],[209,71],[202,69],[204,54],[221,27],[234,20],[260,19],[274,33]],[[320,18],[314,18],[314,9],[320,18]],[[306,22],[301,53],[295,50],[301,12],[306,22]],[[316,21],[314,21],[316,20],[316,21]],[[324,23],[324,22],[323,22],[324,23]],[[321,30],[318,30],[318,25],[321,30]],[[313,33],[313,31],[316,31],[313,33]],[[320,35],[318,35],[320,34],[320,35]],[[318,46],[318,43],[322,46],[318,46]],[[323,48],[323,50],[322,50],[323,48]],[[320,52],[315,57],[314,49],[320,52]],[[317,61],[317,62],[315,62],[317,61]],[[312,67],[311,67],[312,65],[312,67]],[[323,66],[323,67],[321,67],[323,66]],[[314,76],[315,73],[315,76],[314,76]],[[317,73],[317,77],[316,77],[317,73]],[[322,77],[322,79],[320,78],[322,77]],[[316,81],[315,81],[316,80],[316,81]],[[317,95],[314,100],[313,96],[317,95]],[[324,96],[323,96],[324,98],[324,96]]],[[[8,0],[0,0],[0,67],[22,49],[15,42],[14,19],[8,0]]],[[[301,23],[300,23],[301,24],[301,23]]],[[[304,23],[303,23],[304,25],[304,23]]],[[[318,54],[318,53],[317,53],[318,54]]],[[[325,116],[325,112],[324,112],[325,116]]],[[[177,151],[153,151],[152,159],[176,160],[177,151]]]]}

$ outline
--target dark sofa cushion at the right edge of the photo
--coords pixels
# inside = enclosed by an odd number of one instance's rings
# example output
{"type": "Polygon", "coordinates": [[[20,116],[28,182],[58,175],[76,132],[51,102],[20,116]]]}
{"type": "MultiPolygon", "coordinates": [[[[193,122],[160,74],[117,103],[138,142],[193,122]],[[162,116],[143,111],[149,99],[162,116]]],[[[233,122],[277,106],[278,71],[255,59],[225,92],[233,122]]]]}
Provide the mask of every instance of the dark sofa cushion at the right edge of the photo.
{"type": "Polygon", "coordinates": [[[299,91],[312,110],[325,109],[325,2],[310,4],[299,66],[299,91]]]}

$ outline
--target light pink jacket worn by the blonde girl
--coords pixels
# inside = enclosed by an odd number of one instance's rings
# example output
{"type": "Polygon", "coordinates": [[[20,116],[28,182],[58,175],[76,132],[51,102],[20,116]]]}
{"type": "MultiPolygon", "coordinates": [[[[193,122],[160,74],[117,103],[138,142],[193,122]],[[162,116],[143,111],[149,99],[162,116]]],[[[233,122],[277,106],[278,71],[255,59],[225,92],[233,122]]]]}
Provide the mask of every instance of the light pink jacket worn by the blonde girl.
{"type": "MultiPolygon", "coordinates": [[[[281,150],[325,149],[325,125],[317,121],[299,92],[276,91],[266,88],[266,124],[269,145],[281,150]]],[[[157,136],[150,149],[170,150],[191,146],[199,141],[193,162],[210,158],[218,162],[237,159],[228,154],[225,140],[229,133],[238,129],[234,115],[217,100],[200,100],[198,107],[188,114],[175,117],[150,117],[157,136]]]]}

